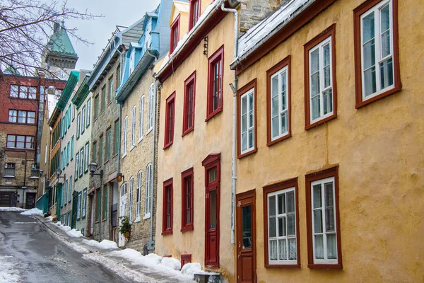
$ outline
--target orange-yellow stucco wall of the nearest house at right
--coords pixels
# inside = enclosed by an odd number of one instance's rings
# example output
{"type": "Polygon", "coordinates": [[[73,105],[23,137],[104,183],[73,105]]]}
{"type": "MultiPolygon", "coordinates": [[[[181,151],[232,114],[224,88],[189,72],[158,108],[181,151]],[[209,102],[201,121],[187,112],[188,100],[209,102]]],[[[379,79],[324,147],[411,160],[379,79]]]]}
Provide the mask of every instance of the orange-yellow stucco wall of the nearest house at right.
{"type": "MultiPolygon", "coordinates": [[[[257,79],[256,154],[237,162],[237,193],[256,189],[258,282],[421,282],[424,276],[424,10],[399,1],[402,91],[355,109],[353,9],[336,1],[239,77],[257,79]],[[304,47],[336,23],[337,118],[305,131],[304,47]],[[266,70],[291,55],[292,137],[266,146],[266,70]],[[305,174],[338,167],[343,270],[307,267],[305,174]],[[301,267],[264,267],[262,187],[298,177],[301,267]]],[[[420,1],[423,4],[422,1],[420,1]]]]}

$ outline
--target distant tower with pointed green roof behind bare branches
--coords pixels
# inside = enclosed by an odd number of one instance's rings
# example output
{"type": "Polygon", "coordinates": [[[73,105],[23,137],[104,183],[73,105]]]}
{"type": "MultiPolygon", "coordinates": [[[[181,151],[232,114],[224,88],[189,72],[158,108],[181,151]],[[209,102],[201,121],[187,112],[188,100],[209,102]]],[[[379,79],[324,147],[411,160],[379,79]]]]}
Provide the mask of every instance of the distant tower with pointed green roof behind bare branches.
{"type": "Polygon", "coordinates": [[[72,42],[64,27],[64,22],[54,23],[53,34],[45,46],[41,66],[57,78],[66,80],[75,69],[78,55],[73,49],[72,42]]]}

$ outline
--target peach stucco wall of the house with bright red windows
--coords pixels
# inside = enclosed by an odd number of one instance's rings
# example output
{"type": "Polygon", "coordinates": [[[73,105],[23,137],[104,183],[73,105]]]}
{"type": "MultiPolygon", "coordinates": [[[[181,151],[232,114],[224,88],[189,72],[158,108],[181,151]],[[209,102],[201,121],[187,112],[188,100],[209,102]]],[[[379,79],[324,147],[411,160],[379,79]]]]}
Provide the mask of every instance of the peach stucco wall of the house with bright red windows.
{"type": "MultiPolygon", "coordinates": [[[[226,16],[209,33],[208,54],[211,55],[224,45],[224,66],[233,59],[234,18],[226,16]]],[[[182,253],[192,254],[192,262],[205,264],[205,183],[204,167],[201,162],[209,154],[220,153],[220,268],[230,282],[235,280],[234,246],[230,243],[230,200],[231,200],[231,132],[232,132],[232,83],[233,72],[223,71],[223,111],[205,122],[208,58],[203,54],[203,42],[189,55],[164,83],[160,97],[160,130],[158,141],[158,206],[156,212],[156,253],[180,258],[182,253]],[[194,131],[182,137],[182,115],[184,81],[196,71],[196,109],[194,131]],[[174,143],[163,150],[165,133],[165,101],[171,93],[175,95],[174,143]],[[182,233],[181,220],[181,173],[194,168],[194,230],[182,233]],[[163,182],[173,178],[173,233],[163,236],[163,182]]]]}

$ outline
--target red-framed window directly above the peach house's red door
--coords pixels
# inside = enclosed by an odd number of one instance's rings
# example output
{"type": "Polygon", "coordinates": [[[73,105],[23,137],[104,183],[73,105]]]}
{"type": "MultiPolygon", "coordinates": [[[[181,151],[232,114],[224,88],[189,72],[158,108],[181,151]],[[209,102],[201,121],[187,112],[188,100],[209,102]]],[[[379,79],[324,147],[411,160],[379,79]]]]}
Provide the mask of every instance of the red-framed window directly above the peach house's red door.
{"type": "Polygon", "coordinates": [[[208,59],[208,105],[206,120],[223,110],[224,46],[208,59]]]}

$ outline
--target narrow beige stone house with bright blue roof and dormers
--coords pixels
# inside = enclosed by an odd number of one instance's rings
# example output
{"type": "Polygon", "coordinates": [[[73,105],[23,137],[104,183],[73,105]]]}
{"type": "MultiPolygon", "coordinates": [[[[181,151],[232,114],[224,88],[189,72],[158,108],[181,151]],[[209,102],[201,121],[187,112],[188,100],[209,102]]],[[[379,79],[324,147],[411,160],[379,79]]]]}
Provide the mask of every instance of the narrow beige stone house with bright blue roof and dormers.
{"type": "Polygon", "coordinates": [[[148,253],[155,236],[158,100],[153,67],[160,64],[169,50],[168,25],[172,1],[163,0],[158,8],[146,13],[144,33],[126,52],[122,85],[117,101],[122,103],[122,160],[124,183],[119,195],[119,216],[128,216],[131,236],[119,246],[148,253]]]}

